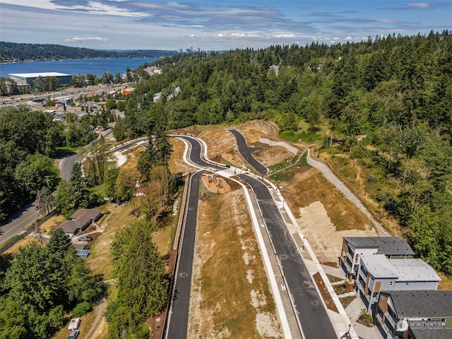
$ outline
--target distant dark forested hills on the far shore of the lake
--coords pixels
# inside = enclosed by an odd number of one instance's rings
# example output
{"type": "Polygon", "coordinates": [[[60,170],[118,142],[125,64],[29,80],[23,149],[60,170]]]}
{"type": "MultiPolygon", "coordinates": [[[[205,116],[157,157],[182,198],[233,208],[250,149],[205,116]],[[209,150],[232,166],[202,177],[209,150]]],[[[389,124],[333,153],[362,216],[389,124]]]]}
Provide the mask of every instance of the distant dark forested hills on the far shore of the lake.
{"type": "Polygon", "coordinates": [[[4,62],[44,61],[66,59],[158,58],[177,54],[177,51],[159,49],[107,51],[61,44],[25,44],[0,42],[0,64],[4,62]]]}

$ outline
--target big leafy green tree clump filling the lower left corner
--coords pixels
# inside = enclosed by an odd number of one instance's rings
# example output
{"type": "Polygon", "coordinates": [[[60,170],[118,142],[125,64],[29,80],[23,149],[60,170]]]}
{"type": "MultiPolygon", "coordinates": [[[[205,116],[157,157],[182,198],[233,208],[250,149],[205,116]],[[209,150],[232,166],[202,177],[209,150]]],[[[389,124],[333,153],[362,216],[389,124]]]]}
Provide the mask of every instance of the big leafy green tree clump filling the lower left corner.
{"type": "Polygon", "coordinates": [[[102,295],[101,280],[63,230],[56,230],[47,246],[20,248],[1,285],[0,338],[48,338],[63,326],[66,312],[84,304],[90,309],[102,295]]]}

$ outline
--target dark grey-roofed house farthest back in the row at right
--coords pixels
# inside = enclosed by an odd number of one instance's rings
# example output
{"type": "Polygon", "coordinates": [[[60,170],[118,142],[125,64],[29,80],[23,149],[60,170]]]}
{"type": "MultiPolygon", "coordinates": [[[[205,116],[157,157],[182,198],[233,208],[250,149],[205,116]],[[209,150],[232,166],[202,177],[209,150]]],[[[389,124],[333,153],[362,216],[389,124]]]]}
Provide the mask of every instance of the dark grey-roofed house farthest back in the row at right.
{"type": "Polygon", "coordinates": [[[408,242],[398,237],[343,237],[339,265],[350,281],[357,275],[361,254],[383,254],[388,259],[406,259],[413,258],[415,252],[408,242]]]}

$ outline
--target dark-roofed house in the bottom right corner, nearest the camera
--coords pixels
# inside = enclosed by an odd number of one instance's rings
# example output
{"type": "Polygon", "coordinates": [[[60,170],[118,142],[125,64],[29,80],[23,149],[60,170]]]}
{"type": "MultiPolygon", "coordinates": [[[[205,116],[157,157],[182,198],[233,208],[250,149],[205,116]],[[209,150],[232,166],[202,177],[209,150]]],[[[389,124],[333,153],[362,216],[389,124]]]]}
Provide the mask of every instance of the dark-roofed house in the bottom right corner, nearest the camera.
{"type": "Polygon", "coordinates": [[[374,322],[384,339],[452,338],[452,291],[383,291],[374,322]]]}

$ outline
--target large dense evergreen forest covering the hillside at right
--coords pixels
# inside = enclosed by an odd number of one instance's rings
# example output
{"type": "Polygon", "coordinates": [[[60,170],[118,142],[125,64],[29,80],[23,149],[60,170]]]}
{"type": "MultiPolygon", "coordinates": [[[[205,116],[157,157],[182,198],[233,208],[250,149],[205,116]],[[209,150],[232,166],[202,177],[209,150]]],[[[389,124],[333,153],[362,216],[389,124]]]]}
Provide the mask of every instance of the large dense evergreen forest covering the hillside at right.
{"type": "Polygon", "coordinates": [[[177,129],[271,119],[287,140],[320,141],[321,151],[359,159],[374,200],[398,220],[417,254],[452,274],[447,30],[177,55],[157,64],[162,74],[152,77],[138,69],[141,81],[115,128],[119,140],[148,135],[157,124],[177,129]]]}

